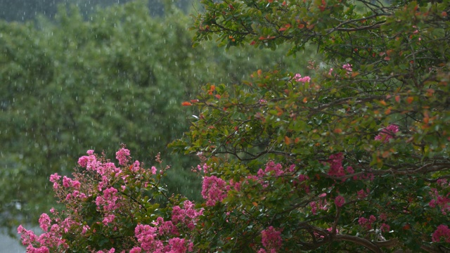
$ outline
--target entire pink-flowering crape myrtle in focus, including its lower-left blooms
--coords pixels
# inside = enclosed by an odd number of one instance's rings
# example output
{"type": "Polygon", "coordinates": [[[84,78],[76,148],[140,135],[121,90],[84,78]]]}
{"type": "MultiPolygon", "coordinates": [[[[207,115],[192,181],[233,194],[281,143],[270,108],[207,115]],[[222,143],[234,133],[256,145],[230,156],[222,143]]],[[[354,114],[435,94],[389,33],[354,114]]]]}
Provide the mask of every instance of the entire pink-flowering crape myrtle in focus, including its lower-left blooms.
{"type": "Polygon", "coordinates": [[[119,167],[89,150],[72,178],[51,176],[67,208],[42,214],[46,233],[18,229],[29,252],[450,251],[448,2],[203,6],[194,41],[311,44],[324,62],[181,103],[196,115],[171,145],[200,157],[195,207],[143,197],[162,194],[164,168],[142,169],[124,147],[119,167]]]}

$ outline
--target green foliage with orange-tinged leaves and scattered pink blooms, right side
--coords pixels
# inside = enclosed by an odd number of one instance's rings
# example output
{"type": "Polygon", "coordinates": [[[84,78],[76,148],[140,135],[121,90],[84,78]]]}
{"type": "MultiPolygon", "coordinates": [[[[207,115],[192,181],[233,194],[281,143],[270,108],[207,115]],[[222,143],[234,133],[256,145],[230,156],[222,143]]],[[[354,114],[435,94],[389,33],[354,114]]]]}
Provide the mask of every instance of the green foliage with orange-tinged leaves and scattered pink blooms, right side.
{"type": "Polygon", "coordinates": [[[435,236],[449,208],[449,4],[203,4],[195,41],[217,34],[226,46],[286,43],[290,53],[311,43],[330,66],[313,67],[309,81],[255,72],[191,101],[198,120],[172,145],[208,157],[208,176],[240,184],[205,211],[205,247],[257,249],[249,242],[273,226],[289,251],[449,250],[449,234],[435,236]],[[285,169],[267,171],[268,161],[285,169]]]}

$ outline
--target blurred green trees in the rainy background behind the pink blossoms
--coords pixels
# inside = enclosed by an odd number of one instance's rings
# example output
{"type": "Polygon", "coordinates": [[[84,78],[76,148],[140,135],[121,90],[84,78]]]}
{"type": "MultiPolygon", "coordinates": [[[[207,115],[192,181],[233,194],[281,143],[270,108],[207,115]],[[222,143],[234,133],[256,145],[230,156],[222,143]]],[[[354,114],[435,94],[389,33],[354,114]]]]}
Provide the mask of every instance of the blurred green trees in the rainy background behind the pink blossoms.
{"type": "Polygon", "coordinates": [[[180,101],[198,84],[238,82],[281,63],[283,52],[192,49],[191,18],[170,4],[152,17],[146,6],[134,1],[89,17],[60,6],[55,19],[0,22],[1,226],[53,205],[49,174],[68,175],[84,150],[113,153],[120,143],[143,162],[162,153],[174,166],[169,193],[200,199],[193,159],[167,155],[167,143],[188,129],[180,101]]]}

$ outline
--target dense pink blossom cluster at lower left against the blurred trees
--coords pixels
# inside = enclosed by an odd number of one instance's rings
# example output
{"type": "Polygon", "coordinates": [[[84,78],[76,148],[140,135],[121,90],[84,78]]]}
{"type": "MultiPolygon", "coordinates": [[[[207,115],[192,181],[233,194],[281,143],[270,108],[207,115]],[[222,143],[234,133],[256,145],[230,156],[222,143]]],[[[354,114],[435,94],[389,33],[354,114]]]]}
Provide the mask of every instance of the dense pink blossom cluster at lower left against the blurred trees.
{"type": "Polygon", "coordinates": [[[188,231],[195,229],[203,209],[195,208],[189,200],[181,202],[176,197],[168,197],[172,206],[167,208],[141,202],[144,198],[140,194],[144,190],[159,193],[158,182],[164,176],[165,169],[161,170],[161,174],[156,174],[156,167],[143,168],[139,161],[131,161],[129,150],[124,147],[116,155],[120,167],[89,150],[87,155],[79,158],[78,164],[82,169],[75,169],[72,177],[50,176],[56,197],[66,205],[66,209],[58,212],[52,208],[50,215],[41,215],[39,226],[44,231],[41,235],[35,235],[23,226],[18,227],[27,252],[65,252],[73,247],[82,247],[83,252],[103,253],[193,251],[191,239],[184,237],[188,236],[188,231]],[[139,190],[133,191],[135,189],[139,190]],[[180,201],[179,204],[176,201],[180,201]],[[155,213],[153,222],[137,224],[133,228],[133,237],[123,237],[122,231],[129,230],[134,216],[143,216],[141,212],[145,212],[146,208],[167,209],[171,215],[155,213]],[[70,235],[69,241],[63,239],[67,235],[70,235]],[[77,236],[74,238],[72,235],[77,236]],[[94,245],[104,235],[108,235],[105,240],[109,242],[113,242],[110,238],[120,239],[115,239],[117,243],[114,245],[94,250],[94,245]]]}

